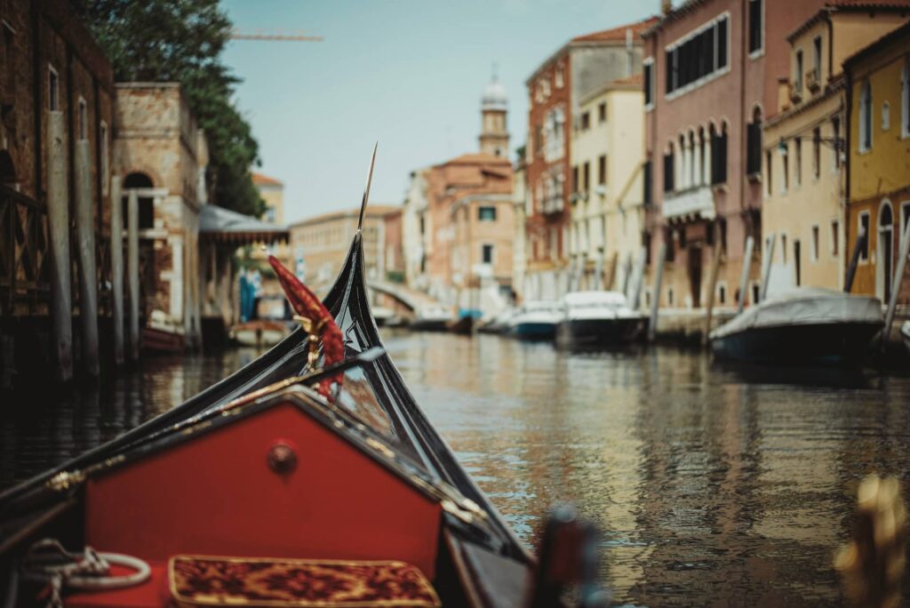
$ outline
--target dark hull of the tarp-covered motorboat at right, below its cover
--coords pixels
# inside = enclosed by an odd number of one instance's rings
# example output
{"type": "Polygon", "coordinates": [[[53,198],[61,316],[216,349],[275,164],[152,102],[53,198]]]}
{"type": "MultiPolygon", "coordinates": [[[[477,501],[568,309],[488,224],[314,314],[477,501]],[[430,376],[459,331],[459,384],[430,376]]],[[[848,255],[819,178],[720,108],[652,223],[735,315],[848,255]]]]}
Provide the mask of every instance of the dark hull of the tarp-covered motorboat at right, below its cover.
{"type": "Polygon", "coordinates": [[[756,362],[856,360],[881,323],[816,323],[750,328],[711,341],[714,355],[723,359],[756,362]]]}

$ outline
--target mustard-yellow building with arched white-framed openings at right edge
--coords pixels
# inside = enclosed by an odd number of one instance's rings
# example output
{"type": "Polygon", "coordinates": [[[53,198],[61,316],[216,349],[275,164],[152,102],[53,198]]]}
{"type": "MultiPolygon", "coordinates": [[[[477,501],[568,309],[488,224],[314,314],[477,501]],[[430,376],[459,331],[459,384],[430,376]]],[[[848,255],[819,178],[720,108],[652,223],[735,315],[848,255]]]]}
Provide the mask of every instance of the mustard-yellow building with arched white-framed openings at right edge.
{"type": "MultiPolygon", "coordinates": [[[[910,23],[848,58],[844,72],[851,251],[860,227],[869,235],[852,291],[887,301],[910,222],[910,23]]],[[[906,307],[910,280],[902,281],[898,305],[906,307]]]]}

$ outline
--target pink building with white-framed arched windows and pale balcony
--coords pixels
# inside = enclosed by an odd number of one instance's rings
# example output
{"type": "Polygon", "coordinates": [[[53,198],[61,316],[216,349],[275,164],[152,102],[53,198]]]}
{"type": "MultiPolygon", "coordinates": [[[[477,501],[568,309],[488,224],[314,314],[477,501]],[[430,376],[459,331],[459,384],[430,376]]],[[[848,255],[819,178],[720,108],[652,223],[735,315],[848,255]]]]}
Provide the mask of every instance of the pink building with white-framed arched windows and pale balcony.
{"type": "Polygon", "coordinates": [[[776,111],[778,79],[791,71],[786,36],[824,2],[662,5],[662,17],[643,34],[651,273],[662,243],[667,255],[661,293],[646,292],[645,299],[658,297],[665,308],[705,306],[717,259],[714,303],[732,306],[741,297],[744,244],[752,236],[745,297],[755,301],[762,123],[776,111]]]}

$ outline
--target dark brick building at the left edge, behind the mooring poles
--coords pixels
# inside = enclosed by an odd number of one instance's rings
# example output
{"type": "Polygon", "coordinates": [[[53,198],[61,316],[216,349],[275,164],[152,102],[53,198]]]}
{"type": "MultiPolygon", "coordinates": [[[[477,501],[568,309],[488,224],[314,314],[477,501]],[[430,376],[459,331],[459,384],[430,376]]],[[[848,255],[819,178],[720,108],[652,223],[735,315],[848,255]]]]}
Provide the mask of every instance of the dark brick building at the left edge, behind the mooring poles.
{"type": "MultiPolygon", "coordinates": [[[[58,380],[74,368],[96,375],[99,349],[123,357],[110,330],[113,72],[68,2],[8,0],[3,8],[0,357],[15,360],[0,367],[56,369],[58,380]]],[[[120,243],[118,259],[123,253],[120,243]]]]}

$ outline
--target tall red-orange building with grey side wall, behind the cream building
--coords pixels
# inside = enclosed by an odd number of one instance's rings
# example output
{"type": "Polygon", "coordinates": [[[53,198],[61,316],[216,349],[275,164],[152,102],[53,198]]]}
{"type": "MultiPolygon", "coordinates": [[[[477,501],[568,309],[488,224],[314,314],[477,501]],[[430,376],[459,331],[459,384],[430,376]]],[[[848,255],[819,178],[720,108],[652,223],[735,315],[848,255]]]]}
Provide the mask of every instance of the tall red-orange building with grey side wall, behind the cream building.
{"type": "Polygon", "coordinates": [[[539,66],[528,87],[524,286],[531,299],[555,299],[569,289],[571,131],[581,100],[603,83],[642,71],[642,31],[654,20],[572,38],[539,66]]]}

